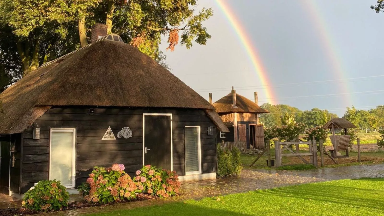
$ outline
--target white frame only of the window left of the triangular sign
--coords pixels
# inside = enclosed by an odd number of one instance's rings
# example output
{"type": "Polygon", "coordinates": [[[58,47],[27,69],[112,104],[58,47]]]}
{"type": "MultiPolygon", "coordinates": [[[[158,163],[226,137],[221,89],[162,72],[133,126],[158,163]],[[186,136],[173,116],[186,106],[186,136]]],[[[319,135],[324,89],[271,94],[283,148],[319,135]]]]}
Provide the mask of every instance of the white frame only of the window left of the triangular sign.
{"type": "Polygon", "coordinates": [[[73,140],[72,140],[72,184],[71,185],[63,185],[66,188],[74,188],[75,180],[76,180],[76,128],[50,128],[49,132],[49,173],[48,179],[51,180],[51,136],[52,133],[60,133],[60,132],[72,132],[73,140]]]}

